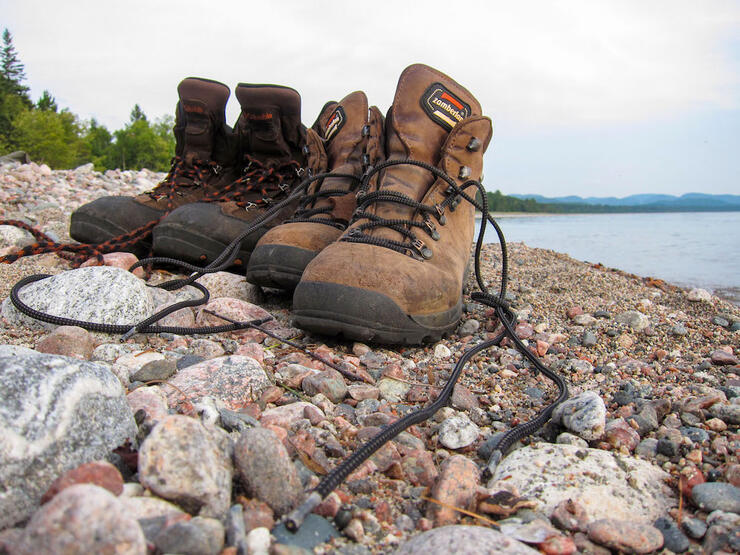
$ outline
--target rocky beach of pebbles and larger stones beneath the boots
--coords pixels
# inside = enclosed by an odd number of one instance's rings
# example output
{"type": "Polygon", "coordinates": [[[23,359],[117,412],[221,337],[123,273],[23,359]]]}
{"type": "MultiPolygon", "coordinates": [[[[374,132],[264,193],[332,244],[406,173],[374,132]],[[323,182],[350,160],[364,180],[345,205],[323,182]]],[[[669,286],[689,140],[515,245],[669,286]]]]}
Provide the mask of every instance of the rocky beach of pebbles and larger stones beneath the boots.
{"type": "MultiPolygon", "coordinates": [[[[163,177],[3,165],[0,219],[69,241],[77,207],[163,177]]],[[[33,242],[0,226],[0,255],[33,242]]],[[[20,279],[52,274],[24,302],[123,324],[199,296],[148,287],[172,269],[145,280],[126,271],[135,261],[0,264],[0,553],[740,550],[740,308],[708,291],[510,244],[517,334],[567,380],[570,399],[484,472],[496,434],[556,395],[504,341],[471,360],[446,408],[384,445],[294,535],[281,519],[304,492],[433,400],[462,353],[495,335],[493,310],[466,297],[460,326],[439,343],[366,345],[303,332],[290,295],[219,272],[199,280],[207,305],[162,322],[272,316],[265,327],[299,349],[255,329],[121,343],[31,320],[8,299],[20,279]]],[[[498,245],[485,246],[481,268],[496,290],[498,245]]]]}

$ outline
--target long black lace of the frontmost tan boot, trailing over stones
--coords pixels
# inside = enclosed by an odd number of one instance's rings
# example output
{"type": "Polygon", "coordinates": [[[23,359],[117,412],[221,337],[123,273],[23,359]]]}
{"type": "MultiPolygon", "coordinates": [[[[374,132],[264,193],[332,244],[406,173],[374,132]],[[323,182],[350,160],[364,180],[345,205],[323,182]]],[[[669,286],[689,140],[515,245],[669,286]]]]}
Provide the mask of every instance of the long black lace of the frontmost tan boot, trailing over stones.
{"type": "MultiPolygon", "coordinates": [[[[326,177],[334,177],[334,176],[336,176],[336,174],[332,174],[331,172],[317,174],[315,176],[309,176],[306,180],[304,180],[301,184],[299,184],[285,200],[281,201],[278,204],[275,204],[272,208],[267,210],[264,214],[259,216],[254,222],[252,222],[252,224],[248,228],[246,228],[237,238],[235,238],[213,262],[211,262],[209,265],[205,267],[199,267],[199,266],[189,264],[187,262],[177,260],[174,258],[169,258],[169,257],[152,257],[148,259],[139,260],[138,262],[133,264],[131,268],[129,269],[130,271],[133,271],[136,268],[143,266],[145,264],[171,264],[171,265],[178,266],[182,269],[192,272],[192,274],[187,278],[171,280],[171,281],[159,284],[157,287],[167,289],[167,290],[174,290],[174,289],[179,289],[181,287],[184,287],[185,285],[192,284],[203,293],[203,296],[200,299],[192,299],[192,300],[180,301],[178,303],[175,303],[163,310],[160,310],[156,314],[150,316],[149,318],[147,318],[146,320],[142,322],[139,322],[138,324],[111,325],[111,324],[99,324],[99,323],[93,323],[93,322],[77,321],[73,319],[60,318],[58,316],[45,314],[45,313],[36,311],[32,309],[31,307],[25,305],[20,300],[20,297],[19,297],[20,290],[24,286],[28,285],[29,283],[49,277],[47,275],[29,276],[25,278],[24,280],[21,280],[20,282],[18,282],[18,284],[16,284],[13,287],[13,290],[11,291],[11,297],[10,297],[11,302],[19,311],[37,320],[41,320],[41,321],[45,321],[49,323],[55,323],[55,324],[59,324],[60,321],[63,321],[63,323],[66,325],[76,325],[76,326],[80,326],[80,327],[83,327],[85,329],[89,329],[92,331],[106,331],[108,333],[123,333],[123,336],[121,337],[122,341],[125,341],[126,339],[131,337],[131,335],[135,333],[158,333],[158,332],[165,332],[165,331],[168,331],[171,333],[183,333],[183,334],[219,333],[222,331],[233,331],[236,329],[244,329],[246,327],[252,327],[280,341],[287,343],[284,339],[278,337],[275,334],[272,334],[271,332],[269,332],[269,330],[265,330],[261,326],[268,319],[252,320],[248,322],[238,322],[238,321],[231,320],[227,317],[216,314],[216,316],[219,316],[223,320],[228,321],[229,324],[224,325],[224,326],[210,326],[210,327],[202,327],[202,328],[173,328],[173,327],[166,327],[166,326],[154,326],[154,323],[160,320],[161,318],[165,317],[166,315],[171,314],[172,312],[175,312],[176,310],[179,310],[183,307],[198,306],[198,305],[202,305],[205,302],[207,302],[208,301],[208,291],[204,286],[202,286],[199,283],[196,283],[196,280],[198,278],[202,277],[205,274],[212,273],[212,272],[218,272],[218,271],[224,270],[228,268],[229,266],[231,266],[233,260],[238,255],[239,246],[241,242],[250,233],[252,233],[262,224],[274,219],[277,216],[278,212],[280,212],[280,210],[282,210],[285,206],[295,201],[299,196],[305,194],[304,193],[305,190],[311,183],[319,179],[324,179],[326,177]],[[172,331],[172,330],[180,330],[180,331],[172,331]]],[[[437,396],[437,398],[434,400],[434,402],[429,404],[427,407],[424,407],[415,412],[407,414],[406,416],[397,420],[396,422],[393,422],[383,427],[376,436],[368,440],[357,451],[355,451],[352,455],[350,455],[347,459],[345,459],[341,464],[339,464],[339,466],[337,466],[329,474],[327,474],[324,477],[324,479],[319,483],[319,485],[309,493],[306,500],[298,508],[296,508],[294,511],[292,511],[286,516],[285,525],[288,528],[288,530],[291,530],[291,531],[297,530],[302,524],[305,517],[316,506],[318,506],[319,503],[321,503],[321,500],[324,497],[326,497],[329,493],[331,493],[334,489],[336,489],[339,486],[339,484],[341,484],[347,478],[347,476],[349,476],[365,460],[367,460],[370,456],[372,456],[372,454],[375,453],[375,451],[377,451],[382,445],[392,440],[394,437],[396,437],[398,434],[400,434],[402,431],[406,430],[410,426],[429,419],[440,408],[444,407],[452,395],[455,383],[457,382],[460,374],[462,373],[463,368],[470,361],[470,359],[474,357],[476,354],[478,354],[479,352],[500,344],[501,340],[505,336],[508,336],[511,339],[511,341],[514,343],[516,348],[522,353],[523,356],[527,358],[527,360],[529,360],[534,365],[534,367],[538,371],[542,372],[546,377],[548,377],[550,380],[552,380],[555,383],[555,385],[558,388],[559,393],[553,403],[551,403],[550,405],[545,407],[543,410],[541,410],[539,413],[537,413],[537,415],[535,415],[535,417],[532,418],[530,421],[517,425],[511,430],[509,430],[508,432],[506,432],[505,434],[503,434],[502,436],[500,436],[500,438],[498,439],[498,441],[496,442],[494,446],[493,453],[491,457],[489,458],[489,461],[488,461],[488,464],[485,470],[486,473],[492,474],[496,466],[498,465],[498,462],[501,460],[503,455],[508,451],[508,449],[515,442],[519,441],[520,439],[528,435],[531,435],[534,431],[536,431],[538,428],[543,426],[549,420],[550,416],[552,415],[552,412],[555,410],[555,407],[557,407],[558,404],[562,403],[563,401],[565,401],[565,399],[568,398],[568,388],[567,388],[567,384],[565,380],[563,380],[562,377],[560,377],[555,372],[547,368],[544,364],[542,364],[542,362],[527,348],[527,346],[519,339],[519,337],[517,337],[515,333],[514,325],[516,324],[516,315],[511,310],[508,303],[504,300],[504,296],[506,293],[506,284],[508,281],[508,254],[507,254],[507,248],[506,248],[506,240],[504,238],[503,232],[501,231],[501,228],[499,227],[498,223],[488,213],[488,201],[486,198],[486,192],[480,182],[476,180],[468,180],[464,182],[461,186],[458,186],[450,176],[448,176],[445,172],[443,172],[439,168],[432,166],[431,164],[427,164],[425,162],[421,162],[418,160],[410,160],[410,159],[389,160],[386,162],[382,162],[374,167],[371,166],[367,168],[367,170],[365,171],[364,175],[361,178],[361,185],[359,187],[357,196],[358,196],[358,206],[357,206],[357,210],[355,211],[355,214],[353,215],[353,222],[359,221],[360,219],[367,219],[368,222],[365,222],[353,228],[353,231],[351,233],[345,234],[340,240],[376,244],[378,246],[390,248],[397,252],[401,252],[409,256],[413,256],[415,258],[421,258],[421,259],[429,258],[429,253],[425,252],[426,247],[423,241],[421,241],[420,239],[416,237],[413,231],[411,231],[411,228],[421,229],[424,232],[426,232],[430,237],[432,237],[432,239],[434,239],[436,228],[434,228],[434,226],[428,225],[427,223],[428,220],[426,218],[425,218],[424,223],[412,222],[407,219],[389,220],[389,219],[380,218],[378,216],[375,216],[374,214],[370,214],[365,209],[374,202],[397,202],[399,204],[412,207],[417,211],[423,212],[425,215],[430,215],[430,216],[435,217],[441,225],[444,225],[445,209],[449,208],[451,210],[454,210],[455,206],[461,201],[461,199],[464,199],[465,201],[472,204],[475,208],[480,210],[481,213],[483,214],[483,218],[481,219],[481,226],[480,226],[480,230],[478,233],[478,237],[476,239],[475,255],[474,255],[475,279],[478,284],[478,287],[480,288],[480,291],[471,293],[470,297],[475,302],[478,302],[485,306],[494,308],[496,311],[496,315],[503,326],[503,329],[494,338],[482,341],[478,345],[466,350],[460,356],[460,359],[455,364],[455,367],[452,373],[450,374],[450,377],[447,380],[447,383],[445,384],[444,388],[442,389],[440,394],[437,396]],[[444,180],[448,184],[448,188],[446,190],[447,198],[445,199],[445,201],[443,201],[442,203],[434,207],[429,207],[429,206],[426,206],[422,203],[419,203],[403,195],[402,193],[398,193],[395,191],[375,191],[375,192],[370,192],[370,193],[367,192],[367,189],[370,183],[370,178],[374,174],[383,170],[384,168],[387,168],[389,166],[399,165],[399,164],[411,164],[411,165],[422,167],[430,171],[436,177],[444,180]],[[481,197],[480,203],[478,203],[474,198],[472,198],[467,193],[465,193],[465,189],[469,187],[475,187],[477,191],[480,193],[480,197],[481,197]],[[490,223],[496,230],[496,234],[498,236],[498,240],[501,245],[502,268],[501,268],[501,280],[500,280],[500,287],[499,287],[498,295],[492,295],[488,292],[487,286],[483,282],[483,278],[482,278],[481,271],[480,271],[480,253],[483,248],[483,238],[484,238],[487,223],[490,223]],[[384,238],[376,238],[376,237],[372,237],[368,234],[363,233],[365,230],[369,230],[375,227],[389,227],[391,229],[394,229],[398,231],[404,238],[408,239],[409,242],[406,243],[404,241],[395,241],[395,240],[389,240],[389,239],[384,239],[384,238]],[[359,230],[359,231],[354,231],[354,230],[359,230]]],[[[314,358],[317,358],[317,360],[320,360],[321,362],[337,369],[338,371],[342,372],[344,375],[349,374],[349,376],[352,376],[351,373],[348,373],[346,368],[342,368],[338,365],[334,365],[333,363],[324,360],[322,357],[314,356],[314,358]]],[[[359,379],[357,378],[357,376],[354,376],[354,378],[359,379]]]]}

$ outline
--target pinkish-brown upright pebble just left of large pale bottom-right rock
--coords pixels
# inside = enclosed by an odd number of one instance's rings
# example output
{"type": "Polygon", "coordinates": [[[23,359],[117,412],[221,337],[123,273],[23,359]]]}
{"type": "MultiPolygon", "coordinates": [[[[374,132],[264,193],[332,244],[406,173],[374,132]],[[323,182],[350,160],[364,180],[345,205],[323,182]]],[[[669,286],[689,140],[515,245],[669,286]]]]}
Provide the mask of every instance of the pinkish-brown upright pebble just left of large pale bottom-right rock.
{"type": "Polygon", "coordinates": [[[432,497],[447,505],[430,503],[427,515],[434,520],[435,526],[454,524],[460,513],[450,509],[468,507],[475,498],[480,471],[477,465],[463,455],[452,455],[442,463],[439,478],[432,487],[432,497]]]}

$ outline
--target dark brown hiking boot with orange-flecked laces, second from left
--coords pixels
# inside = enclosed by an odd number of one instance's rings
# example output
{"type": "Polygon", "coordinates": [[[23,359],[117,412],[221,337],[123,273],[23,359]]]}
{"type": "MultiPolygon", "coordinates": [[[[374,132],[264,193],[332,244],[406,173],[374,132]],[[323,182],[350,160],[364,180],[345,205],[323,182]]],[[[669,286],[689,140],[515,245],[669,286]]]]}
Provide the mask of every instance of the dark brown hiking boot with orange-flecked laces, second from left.
{"type": "MultiPolygon", "coordinates": [[[[240,83],[235,94],[242,107],[235,126],[243,156],[242,175],[220,198],[182,206],[164,218],[154,230],[158,256],[195,264],[212,262],[251,222],[284,200],[302,181],[307,168],[322,169],[319,158],[325,157],[312,154],[317,148],[321,150],[320,141],[314,133],[307,143],[297,91],[240,83]]],[[[246,264],[259,238],[292,215],[296,205],[297,201],[250,234],[242,242],[235,264],[246,264]]]]}

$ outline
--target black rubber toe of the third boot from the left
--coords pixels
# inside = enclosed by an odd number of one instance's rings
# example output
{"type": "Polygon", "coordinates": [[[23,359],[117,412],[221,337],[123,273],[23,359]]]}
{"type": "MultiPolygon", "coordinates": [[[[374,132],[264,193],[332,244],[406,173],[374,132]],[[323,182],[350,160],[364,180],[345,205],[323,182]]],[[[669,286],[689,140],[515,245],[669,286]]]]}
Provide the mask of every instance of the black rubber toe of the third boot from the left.
{"type": "Polygon", "coordinates": [[[318,254],[290,245],[259,245],[249,259],[247,281],[262,287],[292,291],[301,281],[303,270],[318,254]]]}

